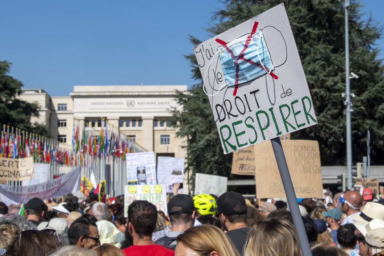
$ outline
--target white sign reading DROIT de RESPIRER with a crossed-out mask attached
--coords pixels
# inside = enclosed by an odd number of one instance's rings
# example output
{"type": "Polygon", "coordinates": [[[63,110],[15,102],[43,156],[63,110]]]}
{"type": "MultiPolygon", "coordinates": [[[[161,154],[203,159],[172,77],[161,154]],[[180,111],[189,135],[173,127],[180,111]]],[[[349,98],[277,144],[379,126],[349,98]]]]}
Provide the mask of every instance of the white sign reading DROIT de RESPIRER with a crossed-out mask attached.
{"type": "Polygon", "coordinates": [[[283,4],[193,50],[224,154],[317,124],[283,4]]]}

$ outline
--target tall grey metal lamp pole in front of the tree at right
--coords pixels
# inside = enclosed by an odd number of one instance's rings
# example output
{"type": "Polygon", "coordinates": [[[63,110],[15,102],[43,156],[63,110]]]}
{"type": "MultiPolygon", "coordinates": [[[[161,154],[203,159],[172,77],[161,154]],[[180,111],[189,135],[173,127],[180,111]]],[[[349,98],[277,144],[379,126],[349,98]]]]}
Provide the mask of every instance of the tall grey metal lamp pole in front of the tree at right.
{"type": "Polygon", "coordinates": [[[347,188],[352,190],[352,130],[351,130],[351,88],[349,85],[349,33],[348,33],[349,0],[345,0],[345,97],[347,121],[347,188]]]}

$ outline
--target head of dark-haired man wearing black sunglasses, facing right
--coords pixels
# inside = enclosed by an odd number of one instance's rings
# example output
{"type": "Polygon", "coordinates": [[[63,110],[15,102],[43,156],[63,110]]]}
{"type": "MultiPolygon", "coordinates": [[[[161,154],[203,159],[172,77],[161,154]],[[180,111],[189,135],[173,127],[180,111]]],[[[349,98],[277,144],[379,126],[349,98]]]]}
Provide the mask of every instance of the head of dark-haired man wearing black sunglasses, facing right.
{"type": "Polygon", "coordinates": [[[70,244],[84,248],[92,248],[100,244],[99,230],[96,223],[90,219],[80,217],[68,229],[70,244]]]}

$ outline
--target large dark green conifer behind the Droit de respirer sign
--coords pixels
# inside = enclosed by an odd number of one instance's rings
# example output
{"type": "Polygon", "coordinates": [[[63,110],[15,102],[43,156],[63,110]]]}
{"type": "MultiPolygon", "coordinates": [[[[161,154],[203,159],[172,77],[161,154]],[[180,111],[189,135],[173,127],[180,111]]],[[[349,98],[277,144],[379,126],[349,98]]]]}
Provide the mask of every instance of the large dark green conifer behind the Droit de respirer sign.
{"type": "MultiPolygon", "coordinates": [[[[218,35],[281,3],[280,0],[227,0],[218,10],[210,27],[218,35]]],[[[346,163],[344,5],[338,0],[289,0],[285,2],[293,35],[311,91],[318,125],[292,134],[292,139],[318,140],[322,165],[346,163]]],[[[351,1],[349,7],[350,69],[360,76],[351,80],[352,136],[354,162],[366,155],[366,134],[371,131],[371,164],[384,164],[384,84],[382,60],[375,41],[382,26],[372,18],[362,20],[362,5],[351,1]]],[[[193,45],[200,41],[190,36],[193,45]]],[[[224,155],[207,96],[202,92],[202,78],[193,54],[192,77],[200,81],[177,99],[184,109],[174,111],[177,135],[188,138],[189,164],[194,172],[228,176],[231,155],[224,155]]]]}

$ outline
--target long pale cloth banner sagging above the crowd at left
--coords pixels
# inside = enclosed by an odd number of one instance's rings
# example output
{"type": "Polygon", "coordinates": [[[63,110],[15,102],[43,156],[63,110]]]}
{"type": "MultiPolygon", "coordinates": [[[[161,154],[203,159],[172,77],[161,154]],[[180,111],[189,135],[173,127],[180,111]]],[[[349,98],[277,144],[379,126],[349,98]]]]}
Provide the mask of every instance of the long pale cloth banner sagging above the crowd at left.
{"type": "MultiPolygon", "coordinates": [[[[17,203],[23,203],[25,193],[28,190],[25,202],[38,197],[46,200],[52,197],[60,197],[66,193],[74,193],[80,190],[81,166],[48,182],[28,186],[11,186],[0,184],[0,193],[17,203]]],[[[2,198],[3,201],[4,198],[2,198]]]]}

